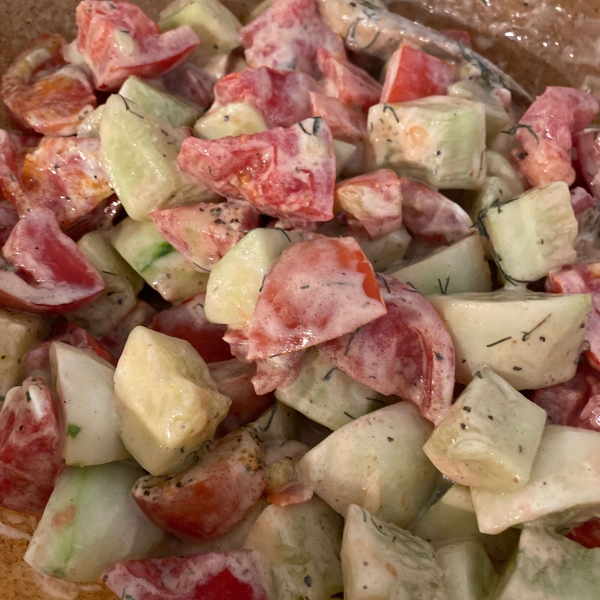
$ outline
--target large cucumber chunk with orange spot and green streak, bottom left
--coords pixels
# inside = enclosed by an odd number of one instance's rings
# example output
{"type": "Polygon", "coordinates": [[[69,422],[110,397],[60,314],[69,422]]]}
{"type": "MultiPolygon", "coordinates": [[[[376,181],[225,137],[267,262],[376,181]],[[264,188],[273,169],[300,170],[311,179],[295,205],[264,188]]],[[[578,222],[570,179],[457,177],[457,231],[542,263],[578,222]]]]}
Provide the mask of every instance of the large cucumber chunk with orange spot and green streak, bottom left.
{"type": "Polygon", "coordinates": [[[143,475],[128,462],[69,467],[56,483],[25,562],[67,581],[97,581],[115,563],[147,557],[164,532],[131,497],[143,475]]]}

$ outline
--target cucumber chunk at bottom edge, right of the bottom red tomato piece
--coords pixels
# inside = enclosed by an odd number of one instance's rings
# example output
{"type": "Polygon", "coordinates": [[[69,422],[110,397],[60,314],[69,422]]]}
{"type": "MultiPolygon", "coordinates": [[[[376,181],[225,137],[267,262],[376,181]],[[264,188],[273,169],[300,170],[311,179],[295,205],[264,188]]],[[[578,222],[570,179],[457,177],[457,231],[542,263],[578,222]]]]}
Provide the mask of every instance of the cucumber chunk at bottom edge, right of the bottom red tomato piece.
{"type": "Polygon", "coordinates": [[[260,553],[277,600],[323,600],[343,589],[340,548],[343,520],[318,498],[267,507],[245,548],[260,553]]]}

